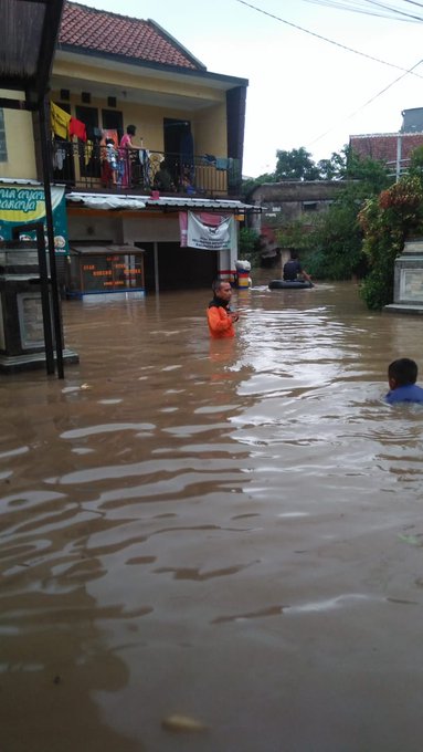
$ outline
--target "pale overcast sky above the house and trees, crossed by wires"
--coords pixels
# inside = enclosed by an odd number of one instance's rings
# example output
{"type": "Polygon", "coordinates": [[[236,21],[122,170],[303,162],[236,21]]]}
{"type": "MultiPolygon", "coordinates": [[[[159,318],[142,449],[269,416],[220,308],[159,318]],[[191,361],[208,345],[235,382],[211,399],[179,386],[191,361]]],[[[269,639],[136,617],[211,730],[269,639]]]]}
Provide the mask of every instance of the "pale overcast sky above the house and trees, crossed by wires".
{"type": "Polygon", "coordinates": [[[303,146],[318,161],[340,152],[350,135],[396,133],[403,109],[423,107],[423,0],[83,4],[151,19],[208,71],[248,80],[244,176],[273,171],[277,149],[303,146]],[[414,75],[404,73],[410,69],[414,75]]]}

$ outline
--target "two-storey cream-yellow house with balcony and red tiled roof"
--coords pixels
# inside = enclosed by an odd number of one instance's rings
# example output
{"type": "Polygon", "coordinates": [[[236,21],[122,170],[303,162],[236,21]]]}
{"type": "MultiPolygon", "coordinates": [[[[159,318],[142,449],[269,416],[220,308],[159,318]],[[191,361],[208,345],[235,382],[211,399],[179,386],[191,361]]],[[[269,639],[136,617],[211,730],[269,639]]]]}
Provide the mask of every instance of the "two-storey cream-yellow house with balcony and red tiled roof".
{"type": "MultiPolygon", "coordinates": [[[[52,177],[66,186],[70,246],[144,249],[147,290],[210,285],[218,273],[234,274],[236,248],[181,248],[179,212],[244,216],[246,87],[244,79],[208,72],[151,20],[66,2],[51,103],[72,116],[77,134],[56,128],[52,142],[52,177]],[[119,178],[105,185],[105,135],[118,143],[129,124],[139,148],[130,153],[127,185],[119,178]],[[151,195],[163,159],[171,189],[151,195]]],[[[0,160],[3,178],[41,178],[30,114],[0,112],[0,160]]]]}

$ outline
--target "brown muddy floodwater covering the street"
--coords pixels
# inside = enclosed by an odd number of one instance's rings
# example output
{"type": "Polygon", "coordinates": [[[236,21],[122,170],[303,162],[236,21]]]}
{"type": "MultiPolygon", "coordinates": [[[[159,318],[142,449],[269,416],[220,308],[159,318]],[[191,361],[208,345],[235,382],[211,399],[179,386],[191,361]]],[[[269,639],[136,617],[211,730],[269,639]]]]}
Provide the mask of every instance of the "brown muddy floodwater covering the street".
{"type": "Polygon", "coordinates": [[[1,376],[1,752],[422,752],[422,320],[262,279],[235,341],[68,302],[81,364],[1,376]]]}

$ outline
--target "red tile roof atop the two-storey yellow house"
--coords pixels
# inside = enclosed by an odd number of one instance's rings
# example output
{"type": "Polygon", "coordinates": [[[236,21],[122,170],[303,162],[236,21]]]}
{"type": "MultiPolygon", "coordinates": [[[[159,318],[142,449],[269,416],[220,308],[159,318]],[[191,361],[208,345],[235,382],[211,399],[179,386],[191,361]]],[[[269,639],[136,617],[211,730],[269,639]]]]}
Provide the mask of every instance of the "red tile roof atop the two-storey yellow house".
{"type": "Polygon", "coordinates": [[[205,70],[154,21],[108,13],[76,2],[64,4],[59,46],[61,44],[161,65],[205,70]]]}

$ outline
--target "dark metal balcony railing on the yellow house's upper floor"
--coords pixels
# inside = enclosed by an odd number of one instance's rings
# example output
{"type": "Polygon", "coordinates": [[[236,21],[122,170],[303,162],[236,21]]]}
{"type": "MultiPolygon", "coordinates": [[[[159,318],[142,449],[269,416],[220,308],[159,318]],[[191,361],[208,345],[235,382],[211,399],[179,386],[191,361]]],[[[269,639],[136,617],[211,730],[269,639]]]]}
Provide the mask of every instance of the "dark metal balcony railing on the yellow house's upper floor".
{"type": "Polygon", "coordinates": [[[75,190],[239,196],[240,160],[55,140],[53,179],[75,190]]]}

